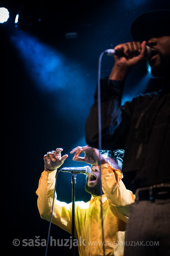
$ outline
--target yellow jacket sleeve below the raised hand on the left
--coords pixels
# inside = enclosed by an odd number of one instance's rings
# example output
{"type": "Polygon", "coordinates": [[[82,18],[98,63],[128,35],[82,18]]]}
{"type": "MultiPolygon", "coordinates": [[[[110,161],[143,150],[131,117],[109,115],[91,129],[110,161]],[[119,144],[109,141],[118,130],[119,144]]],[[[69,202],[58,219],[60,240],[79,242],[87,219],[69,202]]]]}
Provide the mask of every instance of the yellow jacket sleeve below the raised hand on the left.
{"type": "MultiPolygon", "coordinates": [[[[50,221],[52,202],[55,189],[56,171],[44,171],[39,180],[38,189],[38,210],[42,219],[50,221]]],[[[71,234],[72,203],[60,202],[55,192],[52,223],[71,234]]]]}

